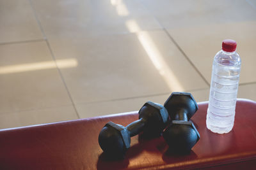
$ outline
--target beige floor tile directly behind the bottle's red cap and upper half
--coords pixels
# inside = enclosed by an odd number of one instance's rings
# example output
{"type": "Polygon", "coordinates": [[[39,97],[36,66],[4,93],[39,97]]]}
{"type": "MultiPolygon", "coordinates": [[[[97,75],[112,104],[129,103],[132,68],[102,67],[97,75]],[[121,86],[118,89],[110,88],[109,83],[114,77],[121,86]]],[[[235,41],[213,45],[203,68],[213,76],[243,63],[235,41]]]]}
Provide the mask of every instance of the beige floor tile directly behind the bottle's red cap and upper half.
{"type": "Polygon", "coordinates": [[[256,81],[256,21],[168,29],[168,32],[189,57],[204,78],[211,83],[212,60],[221,50],[223,39],[235,39],[241,56],[240,83],[256,81]]]}

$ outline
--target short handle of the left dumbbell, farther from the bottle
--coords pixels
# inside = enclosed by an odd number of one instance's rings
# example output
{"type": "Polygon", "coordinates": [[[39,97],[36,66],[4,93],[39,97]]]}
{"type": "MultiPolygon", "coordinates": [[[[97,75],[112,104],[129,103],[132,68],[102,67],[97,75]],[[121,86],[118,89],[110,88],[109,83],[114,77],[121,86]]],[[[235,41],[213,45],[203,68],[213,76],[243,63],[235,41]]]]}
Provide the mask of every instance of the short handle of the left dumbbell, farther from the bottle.
{"type": "Polygon", "coordinates": [[[141,131],[143,131],[145,122],[146,122],[145,119],[140,118],[139,120],[136,120],[136,121],[132,122],[131,124],[127,125],[127,127],[125,127],[125,128],[130,132],[131,137],[136,136],[141,131]]]}

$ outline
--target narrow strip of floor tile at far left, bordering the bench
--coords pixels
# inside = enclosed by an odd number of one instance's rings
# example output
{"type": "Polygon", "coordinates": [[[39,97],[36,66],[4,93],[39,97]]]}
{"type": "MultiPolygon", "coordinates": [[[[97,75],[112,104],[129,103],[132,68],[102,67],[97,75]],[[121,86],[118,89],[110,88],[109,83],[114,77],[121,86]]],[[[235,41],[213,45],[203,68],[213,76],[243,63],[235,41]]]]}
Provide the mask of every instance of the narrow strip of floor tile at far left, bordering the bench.
{"type": "Polygon", "coordinates": [[[0,114],[0,129],[77,119],[72,105],[0,114]]]}

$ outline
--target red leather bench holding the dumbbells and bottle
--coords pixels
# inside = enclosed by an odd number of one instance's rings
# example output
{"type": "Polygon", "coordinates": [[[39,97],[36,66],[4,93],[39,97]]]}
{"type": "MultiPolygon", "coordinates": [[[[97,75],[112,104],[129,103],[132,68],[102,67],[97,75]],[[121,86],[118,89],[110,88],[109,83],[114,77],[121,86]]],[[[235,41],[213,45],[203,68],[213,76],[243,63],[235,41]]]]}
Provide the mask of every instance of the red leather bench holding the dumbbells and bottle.
{"type": "Polygon", "coordinates": [[[124,160],[106,160],[98,144],[109,121],[127,125],[138,113],[123,113],[0,131],[0,169],[256,169],[256,103],[237,100],[234,128],[214,134],[205,127],[207,102],[191,120],[200,140],[189,155],[173,155],[163,137],[131,139],[124,160]]]}

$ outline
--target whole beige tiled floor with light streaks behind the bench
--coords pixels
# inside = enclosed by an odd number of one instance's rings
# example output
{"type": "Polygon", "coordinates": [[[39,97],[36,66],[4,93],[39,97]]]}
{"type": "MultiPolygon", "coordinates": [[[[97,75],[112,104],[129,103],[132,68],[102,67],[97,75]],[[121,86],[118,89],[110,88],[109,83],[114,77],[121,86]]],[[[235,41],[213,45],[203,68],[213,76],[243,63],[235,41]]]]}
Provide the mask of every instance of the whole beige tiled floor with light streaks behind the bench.
{"type": "Polygon", "coordinates": [[[256,1],[1,0],[0,129],[207,101],[223,39],[256,100],[256,1]]]}

